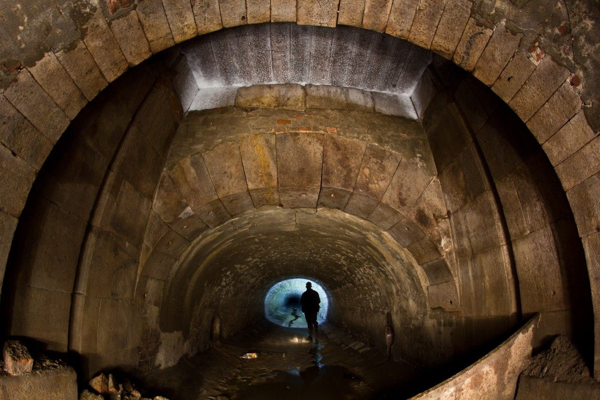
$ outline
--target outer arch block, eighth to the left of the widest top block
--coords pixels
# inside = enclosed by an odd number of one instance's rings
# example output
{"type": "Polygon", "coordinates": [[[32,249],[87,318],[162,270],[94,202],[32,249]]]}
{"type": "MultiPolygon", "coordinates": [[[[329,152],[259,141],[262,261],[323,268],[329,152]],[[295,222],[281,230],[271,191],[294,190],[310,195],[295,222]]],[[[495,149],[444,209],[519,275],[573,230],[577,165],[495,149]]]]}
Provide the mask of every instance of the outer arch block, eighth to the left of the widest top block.
{"type": "Polygon", "coordinates": [[[101,7],[97,8],[94,16],[82,28],[86,31],[83,41],[98,68],[108,82],[113,82],[127,70],[128,65],[115,36],[106,23],[101,7]]]}

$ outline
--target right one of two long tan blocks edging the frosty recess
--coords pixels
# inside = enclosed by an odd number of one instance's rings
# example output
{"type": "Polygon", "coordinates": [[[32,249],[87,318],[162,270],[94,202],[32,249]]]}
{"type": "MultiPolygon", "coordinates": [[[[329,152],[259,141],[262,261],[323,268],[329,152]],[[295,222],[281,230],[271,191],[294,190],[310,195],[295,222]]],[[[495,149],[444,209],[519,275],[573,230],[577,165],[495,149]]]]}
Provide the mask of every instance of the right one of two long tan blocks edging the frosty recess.
{"type": "Polygon", "coordinates": [[[371,92],[328,85],[306,85],[307,109],[373,111],[371,92]]]}

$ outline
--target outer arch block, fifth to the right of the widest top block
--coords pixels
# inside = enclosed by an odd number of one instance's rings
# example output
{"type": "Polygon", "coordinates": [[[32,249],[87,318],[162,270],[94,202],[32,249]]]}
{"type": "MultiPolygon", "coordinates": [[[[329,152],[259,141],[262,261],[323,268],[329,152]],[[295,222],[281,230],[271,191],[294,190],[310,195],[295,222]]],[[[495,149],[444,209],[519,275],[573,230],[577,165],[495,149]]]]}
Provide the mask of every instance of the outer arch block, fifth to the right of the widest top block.
{"type": "Polygon", "coordinates": [[[464,27],[469,22],[472,3],[466,0],[449,0],[431,41],[431,50],[446,59],[451,59],[460,41],[464,27]]]}

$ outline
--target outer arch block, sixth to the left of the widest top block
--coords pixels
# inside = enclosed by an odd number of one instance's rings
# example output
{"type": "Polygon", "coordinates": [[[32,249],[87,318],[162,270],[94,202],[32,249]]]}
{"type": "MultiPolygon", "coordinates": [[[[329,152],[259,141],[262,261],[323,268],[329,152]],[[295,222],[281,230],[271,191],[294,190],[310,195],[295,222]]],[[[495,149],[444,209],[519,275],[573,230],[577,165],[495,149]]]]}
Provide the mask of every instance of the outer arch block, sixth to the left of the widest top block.
{"type": "MultiPolygon", "coordinates": [[[[196,3],[203,4],[203,1],[198,0],[196,3]]],[[[136,11],[152,53],[156,54],[175,44],[161,0],[141,1],[137,4],[136,11]]]]}

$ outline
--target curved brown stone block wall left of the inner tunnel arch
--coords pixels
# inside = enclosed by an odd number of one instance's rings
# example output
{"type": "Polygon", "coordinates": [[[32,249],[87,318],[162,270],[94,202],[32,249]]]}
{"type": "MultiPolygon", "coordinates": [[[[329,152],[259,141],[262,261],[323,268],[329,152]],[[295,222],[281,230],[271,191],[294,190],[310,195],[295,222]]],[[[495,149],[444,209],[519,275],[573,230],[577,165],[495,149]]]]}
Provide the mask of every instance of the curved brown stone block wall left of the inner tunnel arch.
{"type": "Polygon", "coordinates": [[[152,62],[74,119],[41,167],[16,231],[3,335],[77,351],[85,374],[137,365],[143,235],[180,118],[164,65],[152,62]]]}

